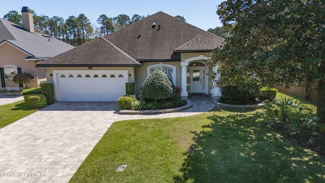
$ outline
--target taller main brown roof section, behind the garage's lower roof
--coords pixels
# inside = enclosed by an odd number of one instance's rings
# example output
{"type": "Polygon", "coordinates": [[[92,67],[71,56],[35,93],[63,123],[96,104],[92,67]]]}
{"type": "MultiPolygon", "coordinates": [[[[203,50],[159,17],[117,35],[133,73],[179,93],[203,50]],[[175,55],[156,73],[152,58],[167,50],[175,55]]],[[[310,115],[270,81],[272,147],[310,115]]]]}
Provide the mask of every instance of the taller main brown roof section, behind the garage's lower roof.
{"type": "Polygon", "coordinates": [[[171,59],[173,50],[199,35],[210,41],[205,42],[204,48],[200,47],[203,42],[193,42],[190,49],[213,50],[224,41],[163,12],[128,25],[105,38],[137,60],[154,60],[171,59]],[[151,28],[153,23],[156,26],[151,28]],[[194,45],[196,43],[198,45],[194,45]]]}

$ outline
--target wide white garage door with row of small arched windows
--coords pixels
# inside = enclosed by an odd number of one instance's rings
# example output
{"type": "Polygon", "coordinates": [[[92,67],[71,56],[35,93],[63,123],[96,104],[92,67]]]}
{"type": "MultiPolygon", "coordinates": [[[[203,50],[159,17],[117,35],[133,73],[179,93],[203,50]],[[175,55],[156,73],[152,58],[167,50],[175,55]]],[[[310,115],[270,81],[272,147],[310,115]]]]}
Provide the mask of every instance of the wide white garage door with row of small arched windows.
{"type": "Polygon", "coordinates": [[[125,95],[127,70],[53,71],[57,101],[117,101],[125,95]]]}

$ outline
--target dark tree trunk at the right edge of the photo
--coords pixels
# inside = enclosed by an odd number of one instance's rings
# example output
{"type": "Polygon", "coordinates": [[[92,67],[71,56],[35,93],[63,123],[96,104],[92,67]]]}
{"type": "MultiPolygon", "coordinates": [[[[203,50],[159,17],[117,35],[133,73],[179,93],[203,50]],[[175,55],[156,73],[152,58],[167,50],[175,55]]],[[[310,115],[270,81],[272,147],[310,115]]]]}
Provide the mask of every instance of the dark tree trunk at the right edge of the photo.
{"type": "Polygon", "coordinates": [[[325,124],[325,81],[319,80],[317,93],[317,117],[325,124]]]}

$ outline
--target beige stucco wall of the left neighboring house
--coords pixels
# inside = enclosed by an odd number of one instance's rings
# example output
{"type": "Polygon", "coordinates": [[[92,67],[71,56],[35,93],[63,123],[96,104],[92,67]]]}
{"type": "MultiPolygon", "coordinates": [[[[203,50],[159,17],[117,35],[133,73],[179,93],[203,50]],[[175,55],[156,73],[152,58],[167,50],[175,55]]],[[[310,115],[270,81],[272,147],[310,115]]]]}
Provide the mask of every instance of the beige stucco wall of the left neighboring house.
{"type": "MultiPolygon", "coordinates": [[[[36,68],[35,68],[35,60],[26,60],[25,58],[29,56],[25,52],[19,50],[18,48],[8,44],[4,43],[2,46],[0,46],[0,67],[3,67],[3,65],[7,64],[13,64],[17,65],[18,68],[21,68],[21,72],[26,72],[34,76],[35,80],[32,80],[28,83],[28,87],[37,87],[39,80],[45,79],[45,74],[42,70],[38,71],[39,76],[36,74],[36,68]]],[[[26,87],[24,85],[24,87],[26,87]]],[[[0,90],[4,90],[0,85],[0,90]]]]}

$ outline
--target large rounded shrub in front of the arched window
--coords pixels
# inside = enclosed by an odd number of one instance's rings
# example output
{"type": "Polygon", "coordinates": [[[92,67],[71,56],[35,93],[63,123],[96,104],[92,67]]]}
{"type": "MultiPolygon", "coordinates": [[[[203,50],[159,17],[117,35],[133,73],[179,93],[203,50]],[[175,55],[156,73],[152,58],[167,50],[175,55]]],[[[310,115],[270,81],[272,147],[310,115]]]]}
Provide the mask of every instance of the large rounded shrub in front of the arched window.
{"type": "Polygon", "coordinates": [[[173,83],[159,70],[152,72],[142,85],[141,98],[164,100],[173,97],[173,83]]]}

